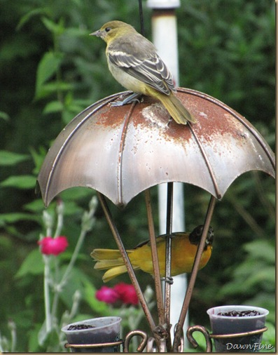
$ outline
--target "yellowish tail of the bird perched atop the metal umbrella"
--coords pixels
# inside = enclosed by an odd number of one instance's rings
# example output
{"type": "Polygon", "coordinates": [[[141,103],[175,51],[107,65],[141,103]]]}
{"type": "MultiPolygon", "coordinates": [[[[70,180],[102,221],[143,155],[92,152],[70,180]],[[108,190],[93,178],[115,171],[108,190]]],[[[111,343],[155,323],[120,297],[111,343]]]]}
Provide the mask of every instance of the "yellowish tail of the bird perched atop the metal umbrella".
{"type": "Polygon", "coordinates": [[[177,123],[186,124],[188,121],[196,123],[196,119],[193,114],[191,114],[188,109],[183,106],[179,98],[177,98],[173,93],[170,95],[160,95],[159,99],[177,123]]]}

